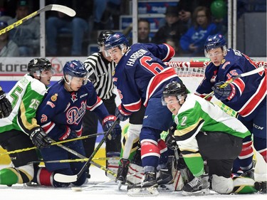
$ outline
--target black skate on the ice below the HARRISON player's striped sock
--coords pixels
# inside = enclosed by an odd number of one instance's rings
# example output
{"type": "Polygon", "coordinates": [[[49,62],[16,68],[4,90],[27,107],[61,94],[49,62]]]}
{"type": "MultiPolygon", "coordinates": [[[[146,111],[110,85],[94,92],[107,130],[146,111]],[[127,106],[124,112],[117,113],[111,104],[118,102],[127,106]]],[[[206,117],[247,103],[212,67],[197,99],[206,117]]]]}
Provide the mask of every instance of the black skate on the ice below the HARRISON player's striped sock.
{"type": "Polygon", "coordinates": [[[132,184],[127,187],[129,196],[157,196],[157,174],[156,172],[145,172],[142,180],[138,184],[132,184]]]}

